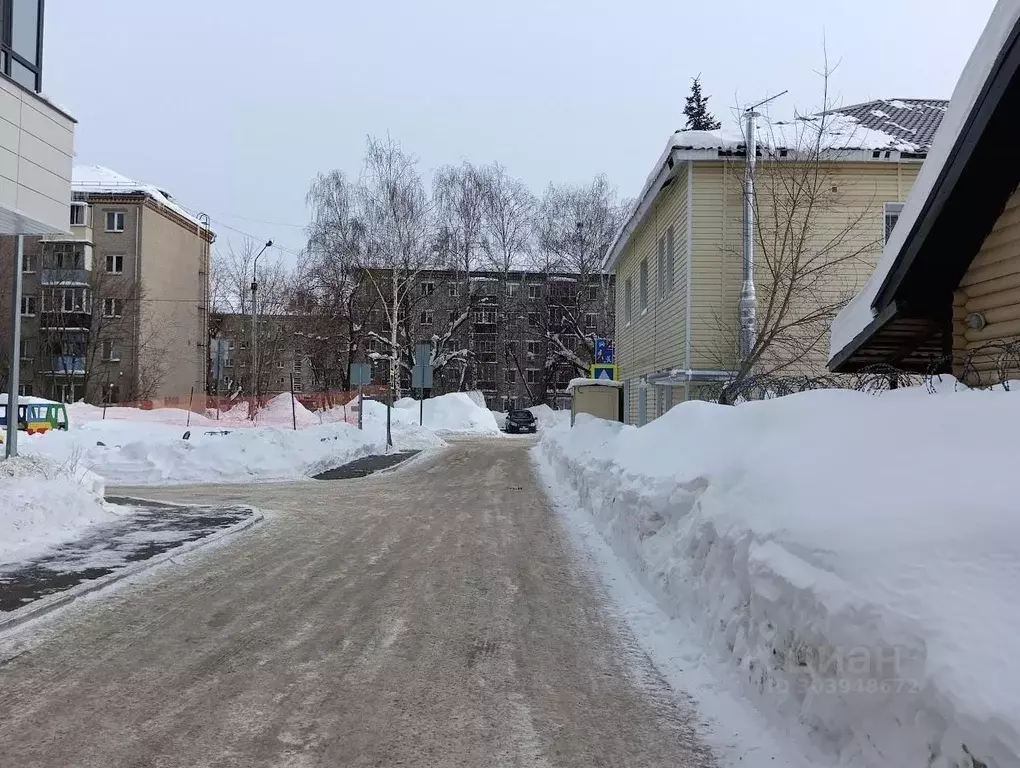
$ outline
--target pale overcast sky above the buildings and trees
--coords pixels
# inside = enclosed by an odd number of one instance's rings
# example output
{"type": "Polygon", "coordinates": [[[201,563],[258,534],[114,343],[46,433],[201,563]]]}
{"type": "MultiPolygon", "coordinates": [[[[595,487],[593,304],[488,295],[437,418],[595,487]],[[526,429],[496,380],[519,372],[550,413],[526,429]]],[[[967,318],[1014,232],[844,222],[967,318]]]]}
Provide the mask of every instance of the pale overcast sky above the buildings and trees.
{"type": "Polygon", "coordinates": [[[297,251],[318,171],[389,132],[422,171],[498,160],[536,192],[640,191],[701,72],[724,123],[788,89],[949,98],[993,0],[48,0],[43,86],[76,162],[297,251]]]}

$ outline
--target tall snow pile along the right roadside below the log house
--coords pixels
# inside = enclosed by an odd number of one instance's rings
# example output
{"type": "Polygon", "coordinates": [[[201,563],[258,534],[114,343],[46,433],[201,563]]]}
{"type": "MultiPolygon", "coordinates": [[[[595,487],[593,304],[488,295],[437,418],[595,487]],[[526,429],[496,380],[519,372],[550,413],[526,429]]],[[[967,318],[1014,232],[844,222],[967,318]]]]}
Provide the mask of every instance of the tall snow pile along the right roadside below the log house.
{"type": "Polygon", "coordinates": [[[580,415],[536,451],[806,752],[1001,767],[1020,763],[1016,423],[1015,393],[819,391],[641,428],[580,415]]]}

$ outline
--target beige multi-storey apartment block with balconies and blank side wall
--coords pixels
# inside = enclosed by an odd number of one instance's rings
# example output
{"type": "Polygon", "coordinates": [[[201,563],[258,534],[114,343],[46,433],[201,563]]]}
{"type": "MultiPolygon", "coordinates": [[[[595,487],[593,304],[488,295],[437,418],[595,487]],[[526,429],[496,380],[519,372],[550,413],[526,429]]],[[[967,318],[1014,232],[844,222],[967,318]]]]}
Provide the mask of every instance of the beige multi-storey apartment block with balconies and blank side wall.
{"type": "Polygon", "coordinates": [[[71,234],[26,243],[21,394],[94,403],[204,394],[208,222],[165,190],[100,166],[75,166],[72,189],[71,234]]]}

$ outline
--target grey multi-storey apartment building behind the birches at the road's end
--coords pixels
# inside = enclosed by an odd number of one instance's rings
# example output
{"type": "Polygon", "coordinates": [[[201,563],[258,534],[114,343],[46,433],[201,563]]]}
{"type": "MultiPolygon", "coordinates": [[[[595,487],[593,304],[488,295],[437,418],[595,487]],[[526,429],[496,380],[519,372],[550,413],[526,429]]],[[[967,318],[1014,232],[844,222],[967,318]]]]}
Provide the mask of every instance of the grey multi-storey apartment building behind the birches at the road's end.
{"type": "MultiPolygon", "coordinates": [[[[385,270],[376,281],[388,285],[385,270]]],[[[365,356],[387,380],[391,349],[386,291],[366,290],[365,356]],[[381,294],[381,296],[379,296],[381,294]],[[382,364],[379,364],[382,362],[382,364]]],[[[430,342],[432,394],[479,390],[490,408],[566,407],[571,378],[586,375],[596,338],[613,337],[613,278],[537,271],[430,269],[414,277],[399,312],[402,390],[416,343],[430,342]]]]}

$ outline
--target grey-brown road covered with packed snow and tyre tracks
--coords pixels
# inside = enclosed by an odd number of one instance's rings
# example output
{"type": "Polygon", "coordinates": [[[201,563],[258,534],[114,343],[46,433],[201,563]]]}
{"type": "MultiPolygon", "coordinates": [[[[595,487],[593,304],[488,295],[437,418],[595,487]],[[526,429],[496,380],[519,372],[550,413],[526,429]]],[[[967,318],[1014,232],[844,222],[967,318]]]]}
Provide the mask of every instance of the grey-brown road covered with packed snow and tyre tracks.
{"type": "Polygon", "coordinates": [[[572,554],[528,445],[146,490],[277,513],[0,663],[0,766],[713,765],[572,554]]]}

